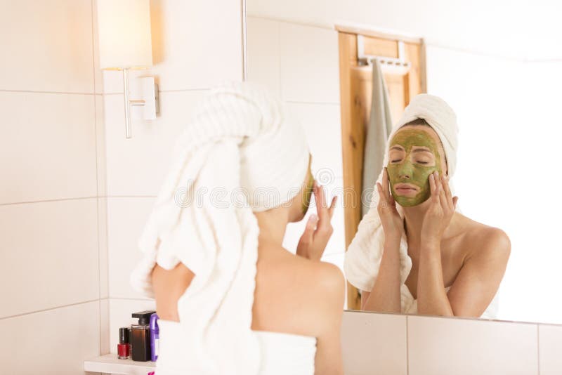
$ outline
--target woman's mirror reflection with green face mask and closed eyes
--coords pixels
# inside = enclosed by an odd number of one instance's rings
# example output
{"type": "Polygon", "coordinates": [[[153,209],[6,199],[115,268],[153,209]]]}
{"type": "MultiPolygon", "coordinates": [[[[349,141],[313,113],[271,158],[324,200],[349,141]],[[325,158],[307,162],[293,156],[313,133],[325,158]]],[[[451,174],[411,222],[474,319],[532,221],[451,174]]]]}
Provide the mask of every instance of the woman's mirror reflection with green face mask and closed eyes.
{"type": "Polygon", "coordinates": [[[511,245],[502,230],[457,211],[456,150],[452,109],[436,96],[414,97],[389,136],[371,209],[346,254],[362,310],[495,317],[511,245]]]}

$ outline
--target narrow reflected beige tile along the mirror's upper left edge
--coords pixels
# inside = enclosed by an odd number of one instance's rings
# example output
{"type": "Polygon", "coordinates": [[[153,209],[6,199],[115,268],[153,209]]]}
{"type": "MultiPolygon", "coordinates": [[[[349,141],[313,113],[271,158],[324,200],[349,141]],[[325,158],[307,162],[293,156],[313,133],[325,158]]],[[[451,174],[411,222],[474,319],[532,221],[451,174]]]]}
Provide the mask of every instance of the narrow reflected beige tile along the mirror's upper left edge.
{"type": "Polygon", "coordinates": [[[279,22],[247,17],[248,81],[281,97],[279,22]]]}

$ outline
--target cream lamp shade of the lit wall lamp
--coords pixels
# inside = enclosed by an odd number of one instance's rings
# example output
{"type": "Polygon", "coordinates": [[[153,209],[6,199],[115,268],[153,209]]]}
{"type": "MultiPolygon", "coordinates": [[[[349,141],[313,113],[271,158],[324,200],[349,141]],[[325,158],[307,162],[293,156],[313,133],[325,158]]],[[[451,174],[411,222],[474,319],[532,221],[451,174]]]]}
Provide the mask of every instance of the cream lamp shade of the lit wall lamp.
{"type": "Polygon", "coordinates": [[[152,67],[149,1],[96,1],[101,69],[152,67]]]}

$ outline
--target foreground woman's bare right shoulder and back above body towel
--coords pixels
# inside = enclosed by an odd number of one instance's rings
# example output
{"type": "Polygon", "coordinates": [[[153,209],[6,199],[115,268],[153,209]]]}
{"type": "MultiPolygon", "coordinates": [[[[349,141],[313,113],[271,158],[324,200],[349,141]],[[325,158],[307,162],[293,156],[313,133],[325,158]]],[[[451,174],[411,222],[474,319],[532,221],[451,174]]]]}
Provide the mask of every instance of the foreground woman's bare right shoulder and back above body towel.
{"type": "Polygon", "coordinates": [[[257,264],[254,313],[260,326],[318,337],[341,317],[346,284],[336,265],[280,246],[260,246],[257,264]]]}

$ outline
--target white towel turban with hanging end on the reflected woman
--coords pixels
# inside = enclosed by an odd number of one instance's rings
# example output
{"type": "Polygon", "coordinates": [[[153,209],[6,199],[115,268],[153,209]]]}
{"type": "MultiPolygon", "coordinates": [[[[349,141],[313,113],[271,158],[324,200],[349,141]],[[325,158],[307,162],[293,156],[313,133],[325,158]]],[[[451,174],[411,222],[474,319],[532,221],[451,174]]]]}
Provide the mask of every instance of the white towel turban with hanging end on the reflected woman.
{"type": "MultiPolygon", "coordinates": [[[[450,188],[453,195],[455,190],[452,186],[452,176],[455,174],[457,166],[457,116],[452,108],[445,101],[437,96],[429,94],[419,94],[415,96],[410,105],[408,105],[402,118],[394,126],[393,131],[386,142],[386,150],[384,154],[383,165],[388,164],[388,143],[393,138],[396,131],[405,124],[415,119],[424,119],[436,131],[443,149],[445,150],[445,158],[447,160],[447,169],[450,178],[450,188]]],[[[444,171],[443,171],[444,172],[444,171]]],[[[378,183],[382,183],[383,171],[377,178],[378,183]]],[[[379,274],[381,258],[384,249],[384,231],[381,225],[381,218],[377,211],[379,204],[379,194],[374,187],[371,207],[367,215],[365,215],[359,223],[358,231],[353,241],[346,251],[344,262],[344,271],[348,282],[353,286],[364,291],[371,291],[374,282],[379,274]]],[[[403,217],[402,207],[396,204],[398,213],[403,217]]],[[[457,205],[457,211],[459,206],[457,205]]],[[[407,254],[407,239],[403,232],[400,239],[400,282],[404,284],[407,276],[412,269],[412,259],[407,254]]],[[[403,288],[401,288],[403,289],[403,288]]],[[[402,301],[402,311],[405,310],[404,298],[402,301]]]]}

